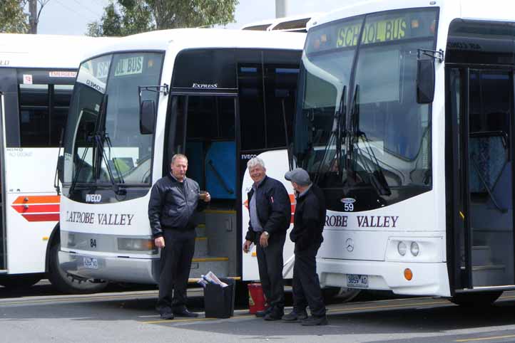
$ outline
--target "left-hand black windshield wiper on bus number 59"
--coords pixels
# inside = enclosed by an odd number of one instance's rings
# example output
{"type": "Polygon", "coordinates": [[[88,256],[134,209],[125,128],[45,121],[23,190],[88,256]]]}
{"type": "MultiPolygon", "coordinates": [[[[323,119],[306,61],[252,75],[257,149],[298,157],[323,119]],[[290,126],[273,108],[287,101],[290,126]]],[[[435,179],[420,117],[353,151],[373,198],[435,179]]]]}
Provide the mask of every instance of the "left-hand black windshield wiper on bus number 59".
{"type": "MultiPolygon", "coordinates": [[[[347,95],[347,85],[343,86],[342,95],[340,96],[340,105],[335,110],[335,114],[332,118],[332,130],[329,139],[327,139],[327,144],[324,148],[324,154],[322,157],[322,161],[318,166],[317,173],[315,174],[315,179],[313,180],[317,183],[320,178],[320,171],[322,171],[322,167],[324,166],[324,162],[329,157],[329,151],[332,147],[333,142],[335,142],[335,160],[331,163],[337,163],[338,174],[342,174],[342,165],[340,163],[340,157],[342,156],[342,120],[347,116],[347,105],[346,103],[346,95],[347,95]]],[[[327,169],[331,169],[331,165],[327,166],[327,169]]]]}

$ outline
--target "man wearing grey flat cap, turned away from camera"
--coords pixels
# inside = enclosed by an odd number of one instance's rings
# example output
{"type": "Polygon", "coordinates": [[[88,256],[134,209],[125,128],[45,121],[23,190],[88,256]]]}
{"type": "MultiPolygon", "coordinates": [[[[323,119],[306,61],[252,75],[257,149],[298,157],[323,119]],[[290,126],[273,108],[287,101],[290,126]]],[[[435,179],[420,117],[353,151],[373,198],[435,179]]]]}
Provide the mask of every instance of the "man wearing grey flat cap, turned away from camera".
{"type": "Polygon", "coordinates": [[[325,198],[310,175],[302,168],[285,174],[297,193],[297,206],[290,239],[295,242],[293,265],[293,310],[282,317],[287,322],[302,320],[302,325],[327,325],[325,305],[317,275],[316,257],[325,224],[325,198]],[[311,317],[306,307],[310,306],[311,317]]]}

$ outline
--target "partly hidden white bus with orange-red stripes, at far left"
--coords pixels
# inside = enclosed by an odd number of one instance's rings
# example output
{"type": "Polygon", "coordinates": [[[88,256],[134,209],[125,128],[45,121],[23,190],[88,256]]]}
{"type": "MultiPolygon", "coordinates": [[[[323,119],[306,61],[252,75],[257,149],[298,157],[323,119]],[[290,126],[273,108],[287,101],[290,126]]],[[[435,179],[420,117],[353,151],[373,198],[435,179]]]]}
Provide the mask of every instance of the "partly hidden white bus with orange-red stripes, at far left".
{"type": "Polygon", "coordinates": [[[67,292],[103,287],[59,270],[60,200],[54,189],[81,51],[93,41],[0,34],[0,285],[32,285],[46,273],[67,292]]]}

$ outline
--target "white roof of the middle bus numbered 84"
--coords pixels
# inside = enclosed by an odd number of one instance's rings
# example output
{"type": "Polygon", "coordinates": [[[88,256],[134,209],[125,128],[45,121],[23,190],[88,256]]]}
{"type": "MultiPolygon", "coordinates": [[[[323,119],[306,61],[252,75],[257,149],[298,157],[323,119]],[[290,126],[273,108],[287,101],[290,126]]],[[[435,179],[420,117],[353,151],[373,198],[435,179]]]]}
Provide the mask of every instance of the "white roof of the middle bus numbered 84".
{"type": "Polygon", "coordinates": [[[119,38],[89,51],[99,56],[116,51],[180,51],[190,48],[271,48],[302,50],[304,33],[240,31],[220,28],[179,28],[119,38]]]}

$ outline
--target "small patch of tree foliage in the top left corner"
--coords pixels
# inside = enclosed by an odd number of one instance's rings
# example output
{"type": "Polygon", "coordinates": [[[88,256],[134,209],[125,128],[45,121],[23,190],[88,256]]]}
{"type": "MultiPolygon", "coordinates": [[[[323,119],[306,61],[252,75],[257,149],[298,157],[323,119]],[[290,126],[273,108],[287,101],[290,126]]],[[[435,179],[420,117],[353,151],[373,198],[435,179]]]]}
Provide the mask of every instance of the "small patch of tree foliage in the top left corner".
{"type": "Polygon", "coordinates": [[[26,33],[29,16],[24,12],[26,0],[0,0],[0,33],[26,33]]]}

